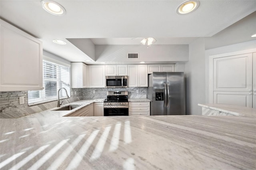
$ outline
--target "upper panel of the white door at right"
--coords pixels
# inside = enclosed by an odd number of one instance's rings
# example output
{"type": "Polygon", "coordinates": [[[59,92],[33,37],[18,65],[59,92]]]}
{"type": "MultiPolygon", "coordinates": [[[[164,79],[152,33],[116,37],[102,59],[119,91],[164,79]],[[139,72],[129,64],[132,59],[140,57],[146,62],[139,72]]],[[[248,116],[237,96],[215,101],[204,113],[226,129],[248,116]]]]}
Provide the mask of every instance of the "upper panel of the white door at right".
{"type": "Polygon", "coordinates": [[[252,53],[214,59],[214,91],[252,90],[252,53]]]}

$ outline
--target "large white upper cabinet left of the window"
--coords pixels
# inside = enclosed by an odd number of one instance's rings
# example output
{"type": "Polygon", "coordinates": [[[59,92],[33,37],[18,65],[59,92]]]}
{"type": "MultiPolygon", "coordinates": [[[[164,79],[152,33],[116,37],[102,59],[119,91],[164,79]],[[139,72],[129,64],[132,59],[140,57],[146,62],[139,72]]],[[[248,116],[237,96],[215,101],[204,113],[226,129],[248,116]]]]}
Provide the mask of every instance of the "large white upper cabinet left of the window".
{"type": "Polygon", "coordinates": [[[0,20],[0,91],[41,90],[42,42],[0,20]]]}

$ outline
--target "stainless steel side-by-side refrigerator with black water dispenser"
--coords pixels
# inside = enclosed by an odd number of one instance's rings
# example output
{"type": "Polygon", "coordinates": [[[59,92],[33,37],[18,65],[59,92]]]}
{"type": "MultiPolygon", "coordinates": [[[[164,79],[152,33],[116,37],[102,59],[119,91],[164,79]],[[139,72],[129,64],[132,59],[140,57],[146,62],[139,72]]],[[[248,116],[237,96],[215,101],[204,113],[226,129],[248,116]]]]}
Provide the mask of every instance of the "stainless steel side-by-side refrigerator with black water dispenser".
{"type": "Polygon", "coordinates": [[[186,115],[183,72],[153,72],[148,75],[150,115],[186,115]]]}

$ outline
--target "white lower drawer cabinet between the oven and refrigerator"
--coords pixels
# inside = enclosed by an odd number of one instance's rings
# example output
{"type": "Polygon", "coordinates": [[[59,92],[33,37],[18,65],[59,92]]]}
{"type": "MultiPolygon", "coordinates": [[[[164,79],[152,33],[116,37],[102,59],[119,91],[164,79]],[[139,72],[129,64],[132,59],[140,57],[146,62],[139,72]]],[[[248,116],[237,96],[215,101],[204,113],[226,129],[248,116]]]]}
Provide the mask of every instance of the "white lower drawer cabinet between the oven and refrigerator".
{"type": "Polygon", "coordinates": [[[129,116],[150,115],[150,102],[129,102],[129,116]]]}

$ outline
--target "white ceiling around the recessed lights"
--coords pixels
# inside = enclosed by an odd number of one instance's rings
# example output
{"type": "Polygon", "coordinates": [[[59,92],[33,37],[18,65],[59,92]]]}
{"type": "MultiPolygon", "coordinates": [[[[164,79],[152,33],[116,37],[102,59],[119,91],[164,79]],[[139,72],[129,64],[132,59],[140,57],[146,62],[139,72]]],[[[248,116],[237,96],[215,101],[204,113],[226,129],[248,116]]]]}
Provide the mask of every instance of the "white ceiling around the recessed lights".
{"type": "Polygon", "coordinates": [[[200,0],[191,14],[178,15],[185,0],[55,0],[64,16],[46,12],[40,0],[0,0],[0,17],[43,42],[45,50],[69,61],[89,59],[71,42],[85,38],[94,44],[140,45],[144,37],[156,44],[189,44],[211,37],[256,10],[256,0],[200,0]]]}

